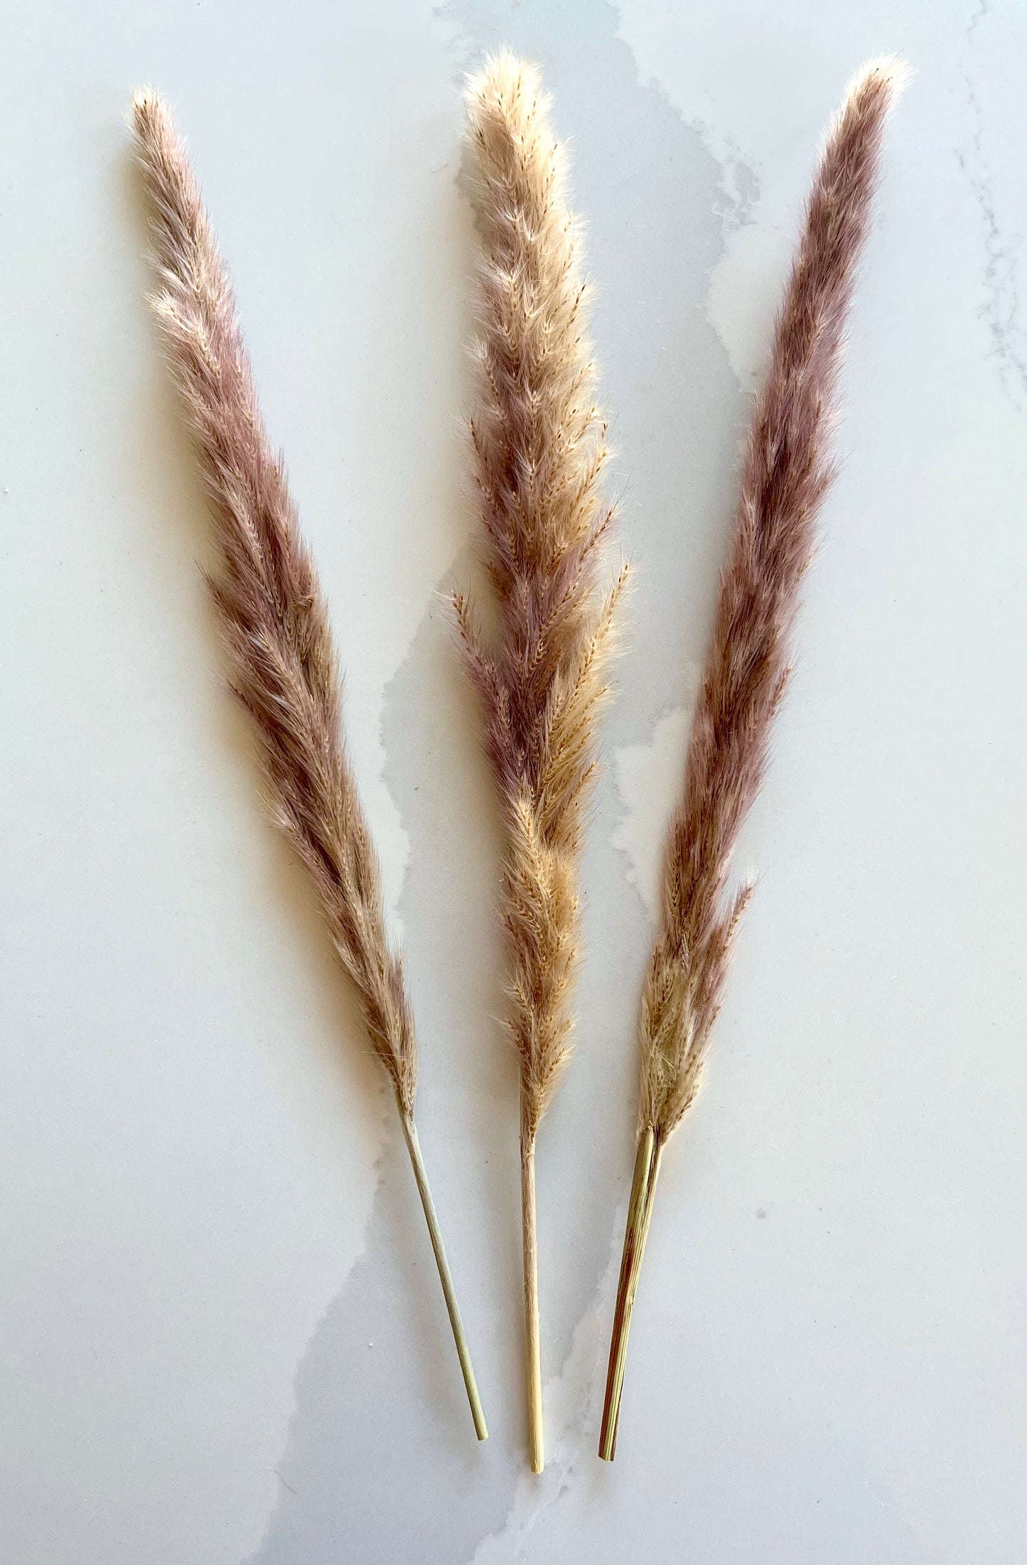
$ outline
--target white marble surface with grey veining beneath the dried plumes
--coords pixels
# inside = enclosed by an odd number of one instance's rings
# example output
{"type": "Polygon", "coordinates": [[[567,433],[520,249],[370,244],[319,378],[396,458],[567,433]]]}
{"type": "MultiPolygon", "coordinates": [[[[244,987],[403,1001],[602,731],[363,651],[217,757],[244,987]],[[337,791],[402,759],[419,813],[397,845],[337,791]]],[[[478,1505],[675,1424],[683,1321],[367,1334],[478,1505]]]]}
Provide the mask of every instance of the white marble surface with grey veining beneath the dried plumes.
{"type": "Polygon", "coordinates": [[[0,1557],[1021,1565],[1027,11],[1018,0],[41,0],[0,94],[0,1557]],[[573,144],[639,570],[542,1136],[524,1471],[471,571],[462,70],[573,144]],[[849,74],[888,144],[761,886],[595,1459],[659,837],[745,396],[849,74]],[[348,668],[424,1050],[476,1448],[396,1128],[216,679],[121,116],[204,178],[348,668]]]}

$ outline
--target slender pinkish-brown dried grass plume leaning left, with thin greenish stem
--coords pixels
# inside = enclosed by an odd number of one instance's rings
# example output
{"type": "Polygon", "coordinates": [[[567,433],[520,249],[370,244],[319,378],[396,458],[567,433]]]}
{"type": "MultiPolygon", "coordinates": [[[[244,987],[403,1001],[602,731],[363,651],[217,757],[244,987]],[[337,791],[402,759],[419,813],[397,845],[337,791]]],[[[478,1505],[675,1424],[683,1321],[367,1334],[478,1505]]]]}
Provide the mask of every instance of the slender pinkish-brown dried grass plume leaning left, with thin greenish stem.
{"type": "Polygon", "coordinates": [[[219,563],[208,581],[232,689],[254,721],[274,818],[313,876],[335,953],[393,1088],[474,1429],[485,1440],[413,1121],[413,1017],[401,956],[385,934],[377,856],[343,742],[324,593],[265,430],[229,275],[171,113],[150,91],[136,92],[132,113],[160,277],[152,304],[218,534],[219,563]]]}

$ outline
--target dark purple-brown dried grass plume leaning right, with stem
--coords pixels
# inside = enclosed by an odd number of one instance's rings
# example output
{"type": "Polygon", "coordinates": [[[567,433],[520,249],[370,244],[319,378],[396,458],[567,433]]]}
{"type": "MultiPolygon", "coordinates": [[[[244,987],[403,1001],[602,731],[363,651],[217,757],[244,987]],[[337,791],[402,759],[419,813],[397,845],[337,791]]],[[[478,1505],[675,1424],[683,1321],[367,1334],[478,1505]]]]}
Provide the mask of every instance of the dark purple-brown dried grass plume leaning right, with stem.
{"type": "Polygon", "coordinates": [[[639,1147],[600,1437],[607,1462],[617,1446],[631,1308],[661,1155],[698,1091],[734,936],[753,894],[745,881],[728,895],[731,854],[766,772],[791,671],[798,587],[833,477],[830,434],[845,318],[870,222],[885,121],[902,75],[891,61],[866,66],[828,131],[753,415],[642,998],[639,1147]]]}

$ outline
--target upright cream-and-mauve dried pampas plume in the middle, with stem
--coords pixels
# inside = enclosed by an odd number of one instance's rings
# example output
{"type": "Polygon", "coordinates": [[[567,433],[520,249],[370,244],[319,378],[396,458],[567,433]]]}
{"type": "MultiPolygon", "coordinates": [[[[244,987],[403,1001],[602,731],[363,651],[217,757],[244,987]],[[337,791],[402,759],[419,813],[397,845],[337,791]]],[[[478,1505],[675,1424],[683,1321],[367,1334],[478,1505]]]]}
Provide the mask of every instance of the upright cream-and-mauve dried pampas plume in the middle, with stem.
{"type": "Polygon", "coordinates": [[[482,244],[474,473],[498,606],[487,646],[454,598],[504,826],[501,916],[520,1061],[531,1465],[543,1466],[535,1135],[570,1050],[581,955],[578,865],[622,570],[600,588],[612,521],[606,424],[586,338],[581,239],[532,66],[503,55],[468,85],[482,244]]]}

